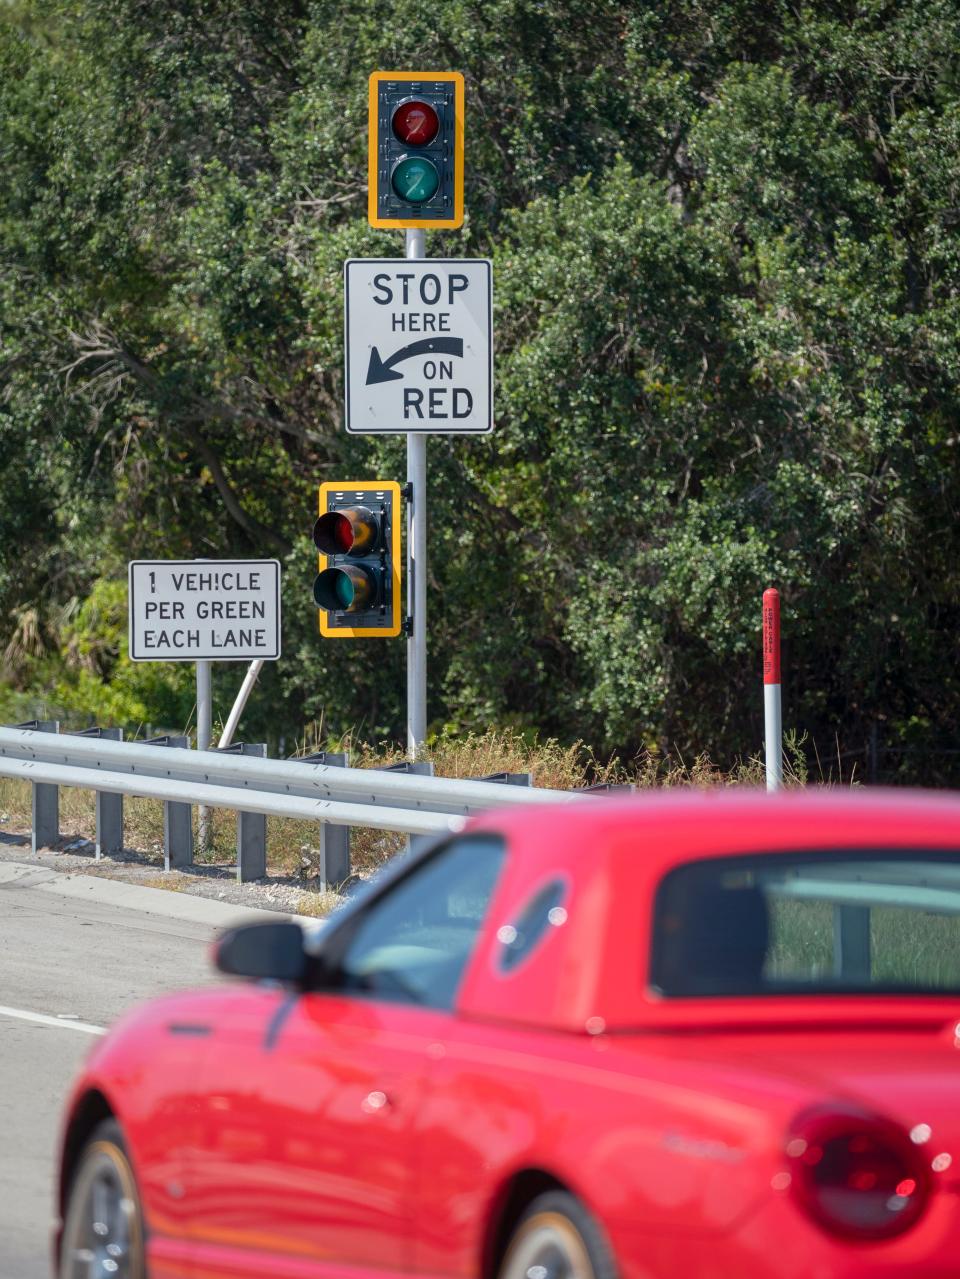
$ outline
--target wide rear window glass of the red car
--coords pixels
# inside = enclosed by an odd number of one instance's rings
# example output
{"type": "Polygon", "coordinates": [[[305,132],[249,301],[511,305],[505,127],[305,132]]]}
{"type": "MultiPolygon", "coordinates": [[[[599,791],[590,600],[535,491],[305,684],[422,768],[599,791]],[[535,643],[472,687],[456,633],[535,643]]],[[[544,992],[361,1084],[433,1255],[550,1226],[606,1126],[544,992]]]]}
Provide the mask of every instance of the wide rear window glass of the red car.
{"type": "Polygon", "coordinates": [[[960,853],[771,853],[679,866],[654,902],[665,996],[960,994],[960,853]]]}

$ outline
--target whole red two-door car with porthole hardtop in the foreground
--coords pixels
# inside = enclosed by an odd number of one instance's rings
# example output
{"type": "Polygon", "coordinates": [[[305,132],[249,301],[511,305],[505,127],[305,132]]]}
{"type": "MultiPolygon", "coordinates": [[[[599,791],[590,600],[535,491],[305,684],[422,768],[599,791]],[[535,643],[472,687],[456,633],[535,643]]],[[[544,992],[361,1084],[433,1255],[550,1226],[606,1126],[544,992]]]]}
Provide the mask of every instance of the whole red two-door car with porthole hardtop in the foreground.
{"type": "Polygon", "coordinates": [[[493,813],[98,1042],[60,1279],[960,1275],[960,802],[493,813]]]}

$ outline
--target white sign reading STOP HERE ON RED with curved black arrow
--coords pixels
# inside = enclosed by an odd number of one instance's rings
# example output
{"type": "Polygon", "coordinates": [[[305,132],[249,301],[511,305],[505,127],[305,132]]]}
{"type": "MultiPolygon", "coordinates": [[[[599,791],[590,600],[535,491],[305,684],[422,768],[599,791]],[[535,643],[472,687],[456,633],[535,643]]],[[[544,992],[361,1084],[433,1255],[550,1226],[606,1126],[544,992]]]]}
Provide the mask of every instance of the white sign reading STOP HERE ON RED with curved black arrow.
{"type": "Polygon", "coordinates": [[[486,258],[345,262],[346,430],[491,431],[492,301],[486,258]]]}

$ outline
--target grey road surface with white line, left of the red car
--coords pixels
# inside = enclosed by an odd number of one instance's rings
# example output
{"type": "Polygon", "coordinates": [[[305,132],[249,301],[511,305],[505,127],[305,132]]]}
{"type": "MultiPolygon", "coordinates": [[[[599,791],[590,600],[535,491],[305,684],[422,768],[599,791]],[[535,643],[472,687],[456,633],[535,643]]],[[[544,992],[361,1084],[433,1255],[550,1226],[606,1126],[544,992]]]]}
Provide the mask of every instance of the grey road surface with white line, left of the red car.
{"type": "Polygon", "coordinates": [[[50,1279],[60,1111],[93,1028],[215,980],[210,941],[244,914],[261,912],[0,865],[0,1279],[50,1279]]]}

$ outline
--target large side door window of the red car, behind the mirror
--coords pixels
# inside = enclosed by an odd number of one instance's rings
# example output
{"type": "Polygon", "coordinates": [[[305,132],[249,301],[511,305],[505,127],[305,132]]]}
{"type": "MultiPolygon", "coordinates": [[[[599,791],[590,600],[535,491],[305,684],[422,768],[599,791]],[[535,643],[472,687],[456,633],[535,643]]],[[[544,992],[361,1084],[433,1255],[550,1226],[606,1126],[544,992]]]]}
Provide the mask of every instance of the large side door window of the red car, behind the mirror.
{"type": "Polygon", "coordinates": [[[340,957],[340,989],[453,1008],[505,854],[499,835],[464,835],[405,875],[358,921],[340,957]]]}

